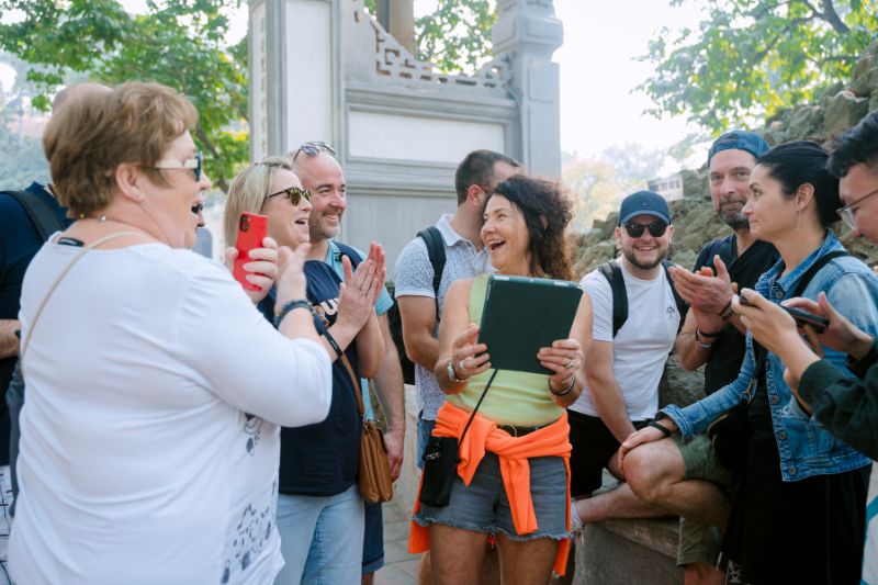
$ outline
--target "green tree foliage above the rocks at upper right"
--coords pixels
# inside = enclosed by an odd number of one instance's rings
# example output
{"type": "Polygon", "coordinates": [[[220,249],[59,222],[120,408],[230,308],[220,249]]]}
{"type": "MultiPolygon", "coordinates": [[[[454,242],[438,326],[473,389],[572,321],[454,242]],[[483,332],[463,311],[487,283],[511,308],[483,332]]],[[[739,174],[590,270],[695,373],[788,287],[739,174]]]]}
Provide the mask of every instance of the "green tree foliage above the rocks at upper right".
{"type": "MultiPolygon", "coordinates": [[[[673,0],[679,5],[690,0],[673,0]]],[[[878,2],[707,0],[698,31],[662,31],[642,57],[655,72],[638,87],[649,112],[685,114],[712,132],[752,125],[849,79],[878,33],[878,2]]]]}

